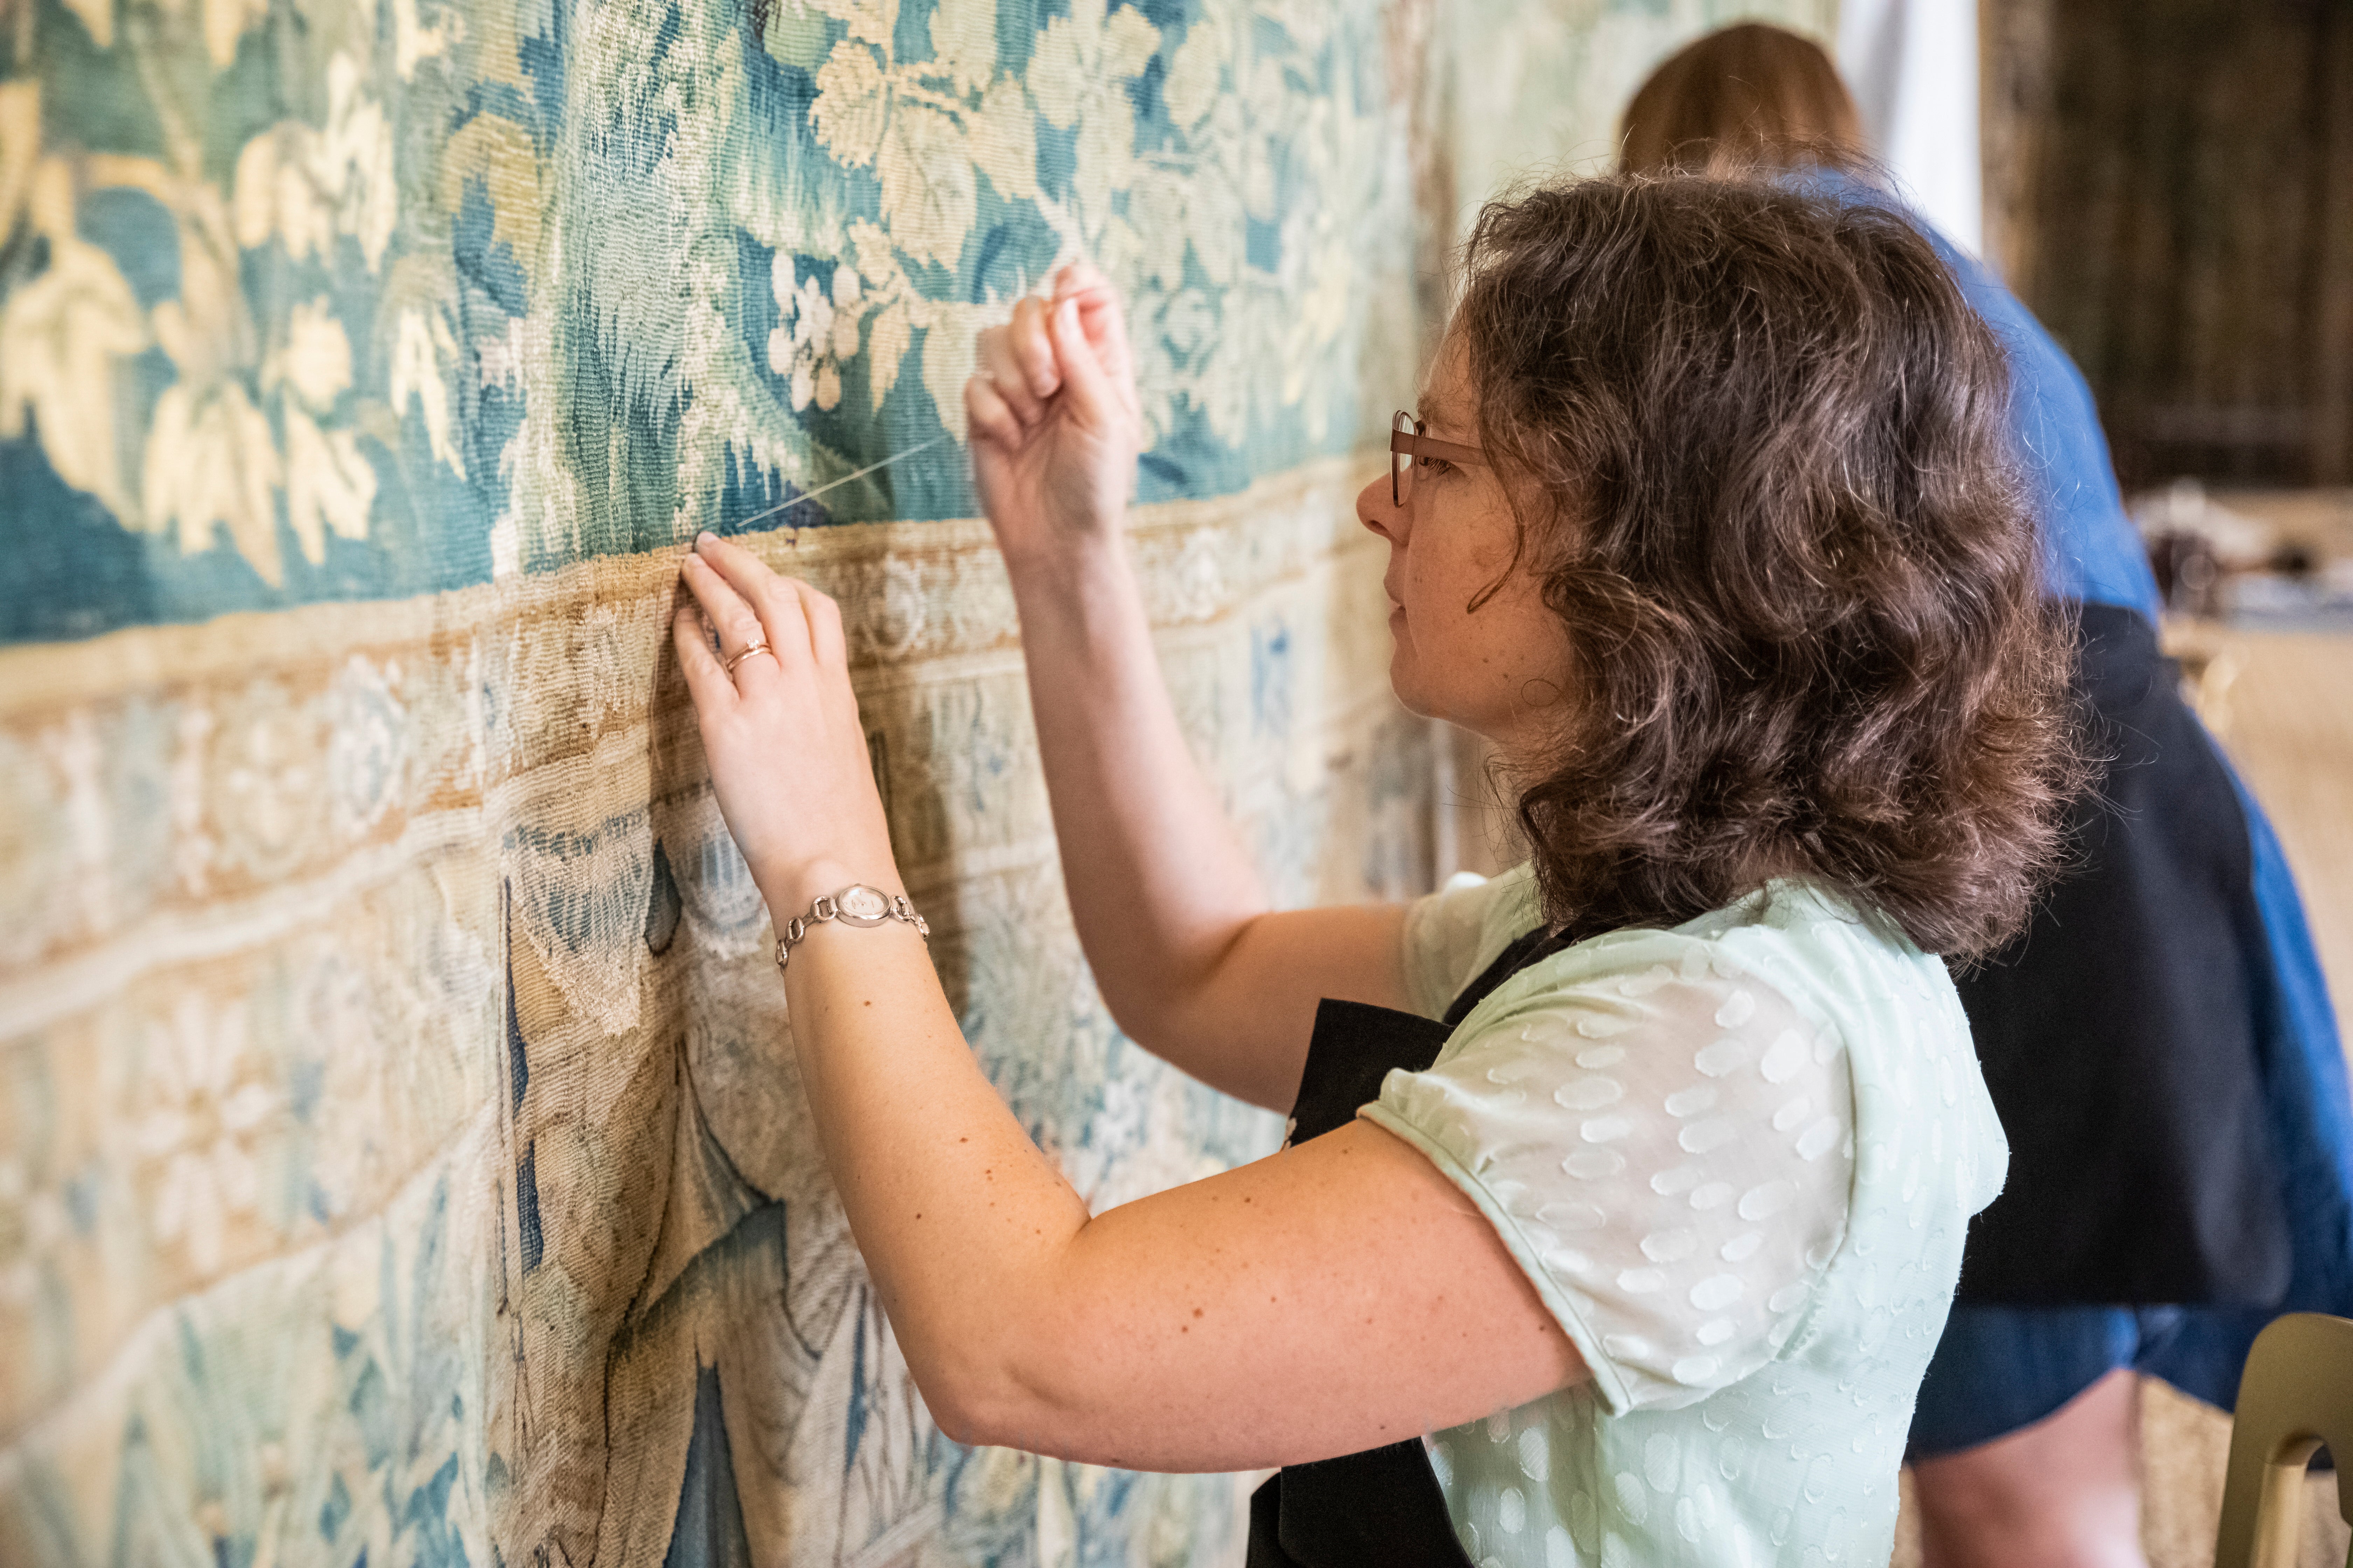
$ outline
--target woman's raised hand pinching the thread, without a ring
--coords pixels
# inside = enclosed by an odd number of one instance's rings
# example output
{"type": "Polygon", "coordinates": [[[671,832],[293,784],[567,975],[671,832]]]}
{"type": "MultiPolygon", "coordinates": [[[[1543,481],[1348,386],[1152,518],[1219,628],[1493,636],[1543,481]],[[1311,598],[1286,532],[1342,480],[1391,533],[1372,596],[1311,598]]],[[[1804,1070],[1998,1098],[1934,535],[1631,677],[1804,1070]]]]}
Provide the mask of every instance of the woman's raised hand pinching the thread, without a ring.
{"type": "Polygon", "coordinates": [[[1111,282],[1087,263],[1054,277],[981,334],[965,383],[972,475],[1012,567],[1118,536],[1136,480],[1144,411],[1127,324],[1111,282]]]}

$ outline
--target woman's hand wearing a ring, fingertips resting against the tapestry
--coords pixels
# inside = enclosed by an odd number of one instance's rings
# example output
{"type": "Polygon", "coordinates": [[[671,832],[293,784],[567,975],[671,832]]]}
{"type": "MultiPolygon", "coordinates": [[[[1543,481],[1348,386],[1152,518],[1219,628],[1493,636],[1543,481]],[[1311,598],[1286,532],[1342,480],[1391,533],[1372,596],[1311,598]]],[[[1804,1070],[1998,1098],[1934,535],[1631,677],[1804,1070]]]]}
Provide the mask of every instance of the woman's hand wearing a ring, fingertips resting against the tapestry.
{"type": "Polygon", "coordinates": [[[842,611],[741,545],[704,534],[680,567],[701,604],[671,621],[727,832],[781,924],[866,882],[901,893],[875,792],[842,611]],[[718,654],[704,632],[718,632],[718,654]],[[744,649],[767,644],[727,672],[744,649]]]}

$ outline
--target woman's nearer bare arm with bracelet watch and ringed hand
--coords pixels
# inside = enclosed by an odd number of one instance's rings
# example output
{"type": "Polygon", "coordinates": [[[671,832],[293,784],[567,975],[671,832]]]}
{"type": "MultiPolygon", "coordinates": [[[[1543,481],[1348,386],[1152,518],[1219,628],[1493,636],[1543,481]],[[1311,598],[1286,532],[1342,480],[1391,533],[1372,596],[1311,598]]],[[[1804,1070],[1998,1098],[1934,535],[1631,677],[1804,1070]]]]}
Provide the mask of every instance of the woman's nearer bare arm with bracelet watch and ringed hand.
{"type": "MultiPolygon", "coordinates": [[[[840,611],[704,536],[678,661],[727,827],[781,926],[904,891],[840,611]]],[[[1224,961],[1233,961],[1231,957],[1224,961]]],[[[1504,1244],[1355,1124],[1101,1218],[1024,1133],[911,926],[819,924],[786,971],[800,1084],[908,1368],[962,1441],[1153,1469],[1353,1453],[1584,1375],[1504,1244]]]]}

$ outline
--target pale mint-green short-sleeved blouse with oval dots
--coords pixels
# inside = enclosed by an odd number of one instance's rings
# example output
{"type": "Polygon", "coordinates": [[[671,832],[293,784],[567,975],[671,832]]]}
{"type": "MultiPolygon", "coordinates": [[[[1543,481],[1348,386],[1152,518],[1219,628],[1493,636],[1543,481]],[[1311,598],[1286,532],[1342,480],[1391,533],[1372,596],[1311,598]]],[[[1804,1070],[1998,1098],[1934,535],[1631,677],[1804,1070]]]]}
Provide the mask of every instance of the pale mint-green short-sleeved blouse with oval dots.
{"type": "MultiPolygon", "coordinates": [[[[1534,924],[1527,867],[1417,903],[1417,1009],[1534,924]]],[[[1480,1206],[1593,1371],[1428,1439],[1473,1563],[1887,1561],[2009,1161],[1939,959],[1774,882],[1520,971],[1360,1114],[1480,1206]]]]}

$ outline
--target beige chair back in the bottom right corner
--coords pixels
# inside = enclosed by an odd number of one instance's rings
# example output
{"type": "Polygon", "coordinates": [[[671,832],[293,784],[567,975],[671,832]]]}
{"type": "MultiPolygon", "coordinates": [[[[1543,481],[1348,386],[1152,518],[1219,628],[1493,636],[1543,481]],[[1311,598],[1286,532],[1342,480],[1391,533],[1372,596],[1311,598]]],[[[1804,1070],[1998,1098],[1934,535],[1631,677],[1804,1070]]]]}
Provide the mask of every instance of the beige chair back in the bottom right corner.
{"type": "Polygon", "coordinates": [[[2238,1385],[2214,1568],[2294,1568],[2304,1465],[2320,1443],[2353,1523],[2353,1319],[2289,1312],[2254,1338],[2238,1385]]]}

